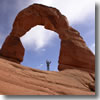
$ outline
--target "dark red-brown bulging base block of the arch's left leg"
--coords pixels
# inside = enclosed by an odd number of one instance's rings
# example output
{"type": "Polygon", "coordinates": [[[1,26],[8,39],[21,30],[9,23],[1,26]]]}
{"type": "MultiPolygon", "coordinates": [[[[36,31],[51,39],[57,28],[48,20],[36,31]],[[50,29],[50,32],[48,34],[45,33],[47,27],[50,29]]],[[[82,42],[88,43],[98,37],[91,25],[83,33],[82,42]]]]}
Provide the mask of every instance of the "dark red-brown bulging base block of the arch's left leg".
{"type": "Polygon", "coordinates": [[[24,56],[24,47],[20,38],[8,36],[2,46],[2,49],[0,50],[0,56],[20,63],[24,56]]]}

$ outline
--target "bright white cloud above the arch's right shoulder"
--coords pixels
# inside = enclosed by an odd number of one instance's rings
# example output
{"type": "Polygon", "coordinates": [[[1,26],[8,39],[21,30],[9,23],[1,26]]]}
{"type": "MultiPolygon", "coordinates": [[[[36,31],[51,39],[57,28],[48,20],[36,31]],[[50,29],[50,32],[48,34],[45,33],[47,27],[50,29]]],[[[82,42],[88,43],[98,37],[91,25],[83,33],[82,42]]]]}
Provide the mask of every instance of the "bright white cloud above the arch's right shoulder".
{"type": "Polygon", "coordinates": [[[95,12],[95,3],[92,0],[65,0],[56,5],[59,5],[58,8],[66,15],[70,24],[82,22],[88,15],[95,12]]]}

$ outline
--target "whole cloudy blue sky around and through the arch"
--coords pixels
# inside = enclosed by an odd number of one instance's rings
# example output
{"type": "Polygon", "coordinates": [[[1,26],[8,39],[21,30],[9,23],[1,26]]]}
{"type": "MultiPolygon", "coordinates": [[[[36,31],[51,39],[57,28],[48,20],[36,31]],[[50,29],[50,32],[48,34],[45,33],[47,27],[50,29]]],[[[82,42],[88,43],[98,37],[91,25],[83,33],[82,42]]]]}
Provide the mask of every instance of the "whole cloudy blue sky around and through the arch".
{"type": "MultiPolygon", "coordinates": [[[[11,32],[19,11],[33,3],[56,7],[64,14],[72,27],[77,29],[95,54],[95,3],[93,0],[0,0],[0,47],[11,32]]],[[[21,37],[25,47],[22,65],[46,70],[45,61],[51,60],[51,71],[57,71],[60,50],[58,35],[36,26],[21,37]]]]}

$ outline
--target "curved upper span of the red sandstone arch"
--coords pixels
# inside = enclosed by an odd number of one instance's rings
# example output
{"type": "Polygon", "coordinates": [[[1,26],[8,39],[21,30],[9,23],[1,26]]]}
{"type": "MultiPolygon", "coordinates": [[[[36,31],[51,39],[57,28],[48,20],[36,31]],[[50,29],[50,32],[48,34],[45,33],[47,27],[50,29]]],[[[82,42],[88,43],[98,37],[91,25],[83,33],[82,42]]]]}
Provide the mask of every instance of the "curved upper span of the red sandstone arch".
{"type": "Polygon", "coordinates": [[[67,29],[69,23],[56,8],[33,4],[17,15],[11,34],[21,37],[36,25],[44,25],[46,29],[57,31],[60,27],[67,29]]]}

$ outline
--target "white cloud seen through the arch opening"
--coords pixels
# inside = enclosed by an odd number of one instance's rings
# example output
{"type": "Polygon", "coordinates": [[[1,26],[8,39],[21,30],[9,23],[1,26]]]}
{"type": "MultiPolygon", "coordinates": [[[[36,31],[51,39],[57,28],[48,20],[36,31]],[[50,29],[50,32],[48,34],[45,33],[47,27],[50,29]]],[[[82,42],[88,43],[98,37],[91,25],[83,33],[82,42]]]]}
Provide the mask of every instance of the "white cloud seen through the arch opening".
{"type": "Polygon", "coordinates": [[[57,33],[44,29],[43,26],[36,26],[27,32],[21,41],[23,45],[30,50],[45,51],[43,47],[51,43],[51,40],[56,36],[57,33]]]}

